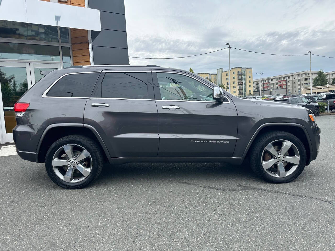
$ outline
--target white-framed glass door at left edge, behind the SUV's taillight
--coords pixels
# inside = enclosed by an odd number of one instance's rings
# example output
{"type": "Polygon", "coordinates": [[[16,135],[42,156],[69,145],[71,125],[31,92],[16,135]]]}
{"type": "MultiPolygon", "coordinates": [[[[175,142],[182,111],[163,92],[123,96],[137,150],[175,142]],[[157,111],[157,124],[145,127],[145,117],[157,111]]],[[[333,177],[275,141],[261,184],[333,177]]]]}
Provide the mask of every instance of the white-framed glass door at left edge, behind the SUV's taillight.
{"type": "Polygon", "coordinates": [[[29,63],[0,62],[0,143],[13,142],[14,104],[31,87],[29,63]]]}

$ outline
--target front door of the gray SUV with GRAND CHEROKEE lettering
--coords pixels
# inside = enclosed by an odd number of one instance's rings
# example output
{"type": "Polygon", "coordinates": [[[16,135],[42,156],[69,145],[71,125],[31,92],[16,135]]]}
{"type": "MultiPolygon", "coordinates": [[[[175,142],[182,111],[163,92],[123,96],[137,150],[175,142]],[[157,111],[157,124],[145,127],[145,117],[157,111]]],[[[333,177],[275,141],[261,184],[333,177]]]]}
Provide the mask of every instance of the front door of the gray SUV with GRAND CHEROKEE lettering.
{"type": "Polygon", "coordinates": [[[153,72],[158,110],[158,157],[231,157],[237,140],[237,111],[212,86],[191,75],[153,72]]]}

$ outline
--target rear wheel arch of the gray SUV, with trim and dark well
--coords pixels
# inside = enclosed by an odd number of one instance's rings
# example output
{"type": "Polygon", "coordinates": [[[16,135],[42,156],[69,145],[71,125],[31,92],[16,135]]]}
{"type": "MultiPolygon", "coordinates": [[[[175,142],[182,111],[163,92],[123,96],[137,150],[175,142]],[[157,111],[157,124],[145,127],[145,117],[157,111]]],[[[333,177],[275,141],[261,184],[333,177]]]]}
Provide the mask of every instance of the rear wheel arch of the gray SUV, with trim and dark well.
{"type": "Polygon", "coordinates": [[[37,146],[36,162],[44,162],[48,149],[56,140],[73,134],[90,137],[103,149],[104,157],[110,158],[104,141],[92,126],[82,123],[57,123],[51,124],[44,130],[37,146]]]}

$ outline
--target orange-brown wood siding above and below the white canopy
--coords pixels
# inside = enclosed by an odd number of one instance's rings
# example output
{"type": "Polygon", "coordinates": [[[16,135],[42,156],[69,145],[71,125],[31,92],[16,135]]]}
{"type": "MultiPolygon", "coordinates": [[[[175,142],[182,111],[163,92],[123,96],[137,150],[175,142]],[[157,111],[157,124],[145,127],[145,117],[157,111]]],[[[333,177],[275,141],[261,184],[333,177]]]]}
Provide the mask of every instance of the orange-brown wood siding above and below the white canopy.
{"type": "MultiPolygon", "coordinates": [[[[60,4],[85,7],[85,0],[58,1],[60,4]]],[[[70,29],[73,65],[90,65],[87,30],[70,29]]]]}

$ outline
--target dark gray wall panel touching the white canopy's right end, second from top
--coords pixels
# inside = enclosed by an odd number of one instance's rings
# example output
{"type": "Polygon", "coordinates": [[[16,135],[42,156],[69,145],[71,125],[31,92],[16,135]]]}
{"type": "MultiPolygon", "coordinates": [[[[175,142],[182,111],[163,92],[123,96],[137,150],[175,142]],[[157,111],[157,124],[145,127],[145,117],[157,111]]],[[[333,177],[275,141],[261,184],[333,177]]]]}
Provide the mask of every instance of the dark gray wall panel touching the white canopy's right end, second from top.
{"type": "Polygon", "coordinates": [[[126,31],[126,18],[123,14],[100,11],[102,29],[126,31]]]}

